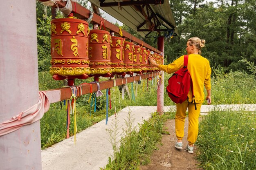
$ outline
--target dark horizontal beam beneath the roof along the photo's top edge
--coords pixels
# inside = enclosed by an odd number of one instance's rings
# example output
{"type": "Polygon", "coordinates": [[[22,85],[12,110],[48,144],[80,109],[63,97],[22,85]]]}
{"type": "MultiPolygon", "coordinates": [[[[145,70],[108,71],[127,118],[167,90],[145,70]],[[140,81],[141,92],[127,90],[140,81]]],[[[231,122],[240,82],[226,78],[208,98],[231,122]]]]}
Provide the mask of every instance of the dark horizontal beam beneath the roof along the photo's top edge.
{"type": "Polygon", "coordinates": [[[137,0],[137,1],[121,1],[121,2],[101,2],[101,7],[118,7],[131,5],[146,5],[146,4],[163,4],[164,0],[137,0]]]}

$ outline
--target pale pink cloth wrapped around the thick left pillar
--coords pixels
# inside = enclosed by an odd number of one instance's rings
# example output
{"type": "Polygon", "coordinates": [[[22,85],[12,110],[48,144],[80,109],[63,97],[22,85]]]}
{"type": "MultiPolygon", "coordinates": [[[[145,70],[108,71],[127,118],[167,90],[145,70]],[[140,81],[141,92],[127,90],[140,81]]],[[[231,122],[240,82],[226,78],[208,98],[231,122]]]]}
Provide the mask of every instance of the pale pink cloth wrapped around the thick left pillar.
{"type": "Polygon", "coordinates": [[[39,101],[34,106],[0,123],[0,136],[18,130],[22,126],[32,124],[40,120],[45,112],[49,110],[50,102],[45,92],[39,91],[39,101]]]}

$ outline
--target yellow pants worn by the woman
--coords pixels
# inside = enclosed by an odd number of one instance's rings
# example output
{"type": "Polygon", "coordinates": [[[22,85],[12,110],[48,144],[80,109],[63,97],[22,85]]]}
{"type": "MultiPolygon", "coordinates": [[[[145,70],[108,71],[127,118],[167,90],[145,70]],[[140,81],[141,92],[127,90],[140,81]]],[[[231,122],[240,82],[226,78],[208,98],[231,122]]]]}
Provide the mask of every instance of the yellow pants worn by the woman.
{"type": "Polygon", "coordinates": [[[193,145],[198,137],[198,118],[200,115],[202,103],[197,103],[195,110],[194,103],[188,103],[187,101],[182,104],[176,104],[176,116],[175,116],[175,132],[177,139],[184,137],[184,123],[186,118],[186,109],[189,107],[189,131],[188,141],[190,145],[193,145]]]}

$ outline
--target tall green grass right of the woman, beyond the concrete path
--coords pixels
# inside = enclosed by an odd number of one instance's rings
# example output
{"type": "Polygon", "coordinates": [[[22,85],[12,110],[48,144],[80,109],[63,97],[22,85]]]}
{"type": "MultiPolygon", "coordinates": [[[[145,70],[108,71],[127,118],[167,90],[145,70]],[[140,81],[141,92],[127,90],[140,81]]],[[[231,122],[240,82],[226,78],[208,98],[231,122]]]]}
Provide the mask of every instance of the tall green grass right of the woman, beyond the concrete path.
{"type": "MultiPolygon", "coordinates": [[[[254,104],[256,103],[256,79],[244,71],[224,73],[223,69],[213,70],[213,104],[254,104]]],[[[205,92],[206,93],[206,92],[205,92]]]]}

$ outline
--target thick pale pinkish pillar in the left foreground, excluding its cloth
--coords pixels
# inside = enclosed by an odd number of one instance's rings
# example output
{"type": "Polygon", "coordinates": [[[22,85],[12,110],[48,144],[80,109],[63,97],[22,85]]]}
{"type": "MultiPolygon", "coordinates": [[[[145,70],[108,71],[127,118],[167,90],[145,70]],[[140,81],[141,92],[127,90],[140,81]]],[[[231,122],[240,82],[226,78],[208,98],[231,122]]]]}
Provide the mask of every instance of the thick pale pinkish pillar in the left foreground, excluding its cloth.
{"type": "MultiPolygon", "coordinates": [[[[0,122],[38,102],[36,1],[0,5],[0,122]]],[[[1,170],[41,170],[40,121],[0,137],[1,170]]]]}

